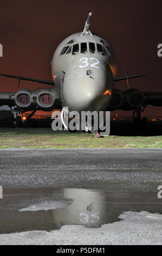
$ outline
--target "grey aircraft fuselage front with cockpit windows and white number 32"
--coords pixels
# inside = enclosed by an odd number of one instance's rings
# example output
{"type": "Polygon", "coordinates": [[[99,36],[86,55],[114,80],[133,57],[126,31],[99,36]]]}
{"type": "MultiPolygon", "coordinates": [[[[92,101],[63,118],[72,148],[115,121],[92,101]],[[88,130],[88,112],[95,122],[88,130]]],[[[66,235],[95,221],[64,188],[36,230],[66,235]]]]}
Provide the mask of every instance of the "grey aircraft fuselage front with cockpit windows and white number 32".
{"type": "Polygon", "coordinates": [[[105,39],[90,32],[70,35],[56,48],[51,71],[62,107],[78,112],[107,108],[117,63],[105,39]]]}

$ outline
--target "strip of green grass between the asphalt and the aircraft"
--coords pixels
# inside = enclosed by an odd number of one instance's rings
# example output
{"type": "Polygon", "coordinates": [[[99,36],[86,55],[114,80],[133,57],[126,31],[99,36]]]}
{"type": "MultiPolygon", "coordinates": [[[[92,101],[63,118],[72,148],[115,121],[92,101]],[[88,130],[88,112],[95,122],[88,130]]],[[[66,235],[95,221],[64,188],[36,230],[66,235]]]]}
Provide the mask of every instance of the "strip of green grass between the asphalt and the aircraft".
{"type": "Polygon", "coordinates": [[[108,136],[96,139],[88,133],[77,135],[50,128],[0,128],[0,149],[5,148],[162,148],[162,136],[108,136]]]}

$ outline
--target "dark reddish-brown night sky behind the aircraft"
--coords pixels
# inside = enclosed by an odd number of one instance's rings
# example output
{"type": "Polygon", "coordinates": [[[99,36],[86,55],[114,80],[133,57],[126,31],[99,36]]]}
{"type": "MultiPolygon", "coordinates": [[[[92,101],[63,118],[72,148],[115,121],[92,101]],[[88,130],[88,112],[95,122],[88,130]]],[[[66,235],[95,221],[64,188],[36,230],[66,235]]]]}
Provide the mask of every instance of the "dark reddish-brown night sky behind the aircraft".
{"type": "MultiPolygon", "coordinates": [[[[83,30],[89,11],[93,12],[90,31],[106,38],[118,57],[118,77],[148,73],[130,81],[131,88],[162,92],[161,0],[5,0],[1,1],[0,43],[3,57],[0,72],[52,80],[50,60],[57,45],[68,35],[83,30]]],[[[21,88],[51,88],[21,81],[21,88]]],[[[115,88],[125,90],[126,82],[115,88]]],[[[0,92],[17,91],[17,81],[0,77],[0,92]]],[[[147,107],[145,114],[162,115],[161,107],[147,107]]],[[[125,112],[120,112],[124,113],[125,112]]]]}

